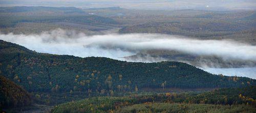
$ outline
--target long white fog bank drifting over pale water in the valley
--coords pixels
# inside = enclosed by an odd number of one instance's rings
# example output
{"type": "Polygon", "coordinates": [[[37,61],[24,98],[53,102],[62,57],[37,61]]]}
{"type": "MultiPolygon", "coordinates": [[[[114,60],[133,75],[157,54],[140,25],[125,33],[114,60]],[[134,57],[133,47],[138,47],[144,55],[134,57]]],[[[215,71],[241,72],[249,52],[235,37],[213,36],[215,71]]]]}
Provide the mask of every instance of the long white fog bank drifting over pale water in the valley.
{"type": "MultiPolygon", "coordinates": [[[[228,40],[197,40],[174,35],[162,34],[105,34],[88,36],[74,31],[54,30],[34,35],[0,34],[0,39],[16,43],[37,52],[52,54],[68,54],[80,57],[103,56],[107,58],[125,60],[142,50],[176,50],[183,53],[197,55],[215,55],[222,59],[256,61],[256,46],[228,40]]],[[[137,59],[136,62],[158,62],[162,58],[137,59]]],[[[214,69],[205,69],[214,73],[214,69]]],[[[218,69],[215,69],[218,71],[218,69]]],[[[226,75],[238,75],[239,72],[226,75]],[[237,74],[236,74],[237,73],[237,74]]],[[[241,73],[241,76],[255,78],[255,73],[241,73]],[[245,75],[246,74],[246,75],[245,75]],[[250,74],[250,75],[249,75],[250,74]],[[254,76],[254,77],[253,77],[254,76]]]]}

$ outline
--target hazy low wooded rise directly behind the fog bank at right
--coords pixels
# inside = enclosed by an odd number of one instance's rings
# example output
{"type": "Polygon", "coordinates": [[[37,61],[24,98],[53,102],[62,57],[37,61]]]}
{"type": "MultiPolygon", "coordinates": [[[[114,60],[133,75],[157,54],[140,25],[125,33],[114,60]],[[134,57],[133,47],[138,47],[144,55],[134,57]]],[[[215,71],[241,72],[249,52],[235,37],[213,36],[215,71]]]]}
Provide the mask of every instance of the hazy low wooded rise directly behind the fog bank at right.
{"type": "Polygon", "coordinates": [[[252,25],[243,25],[226,21],[205,22],[151,22],[126,26],[119,33],[160,33],[191,37],[214,37],[230,35],[233,32],[255,29],[252,25]]]}

